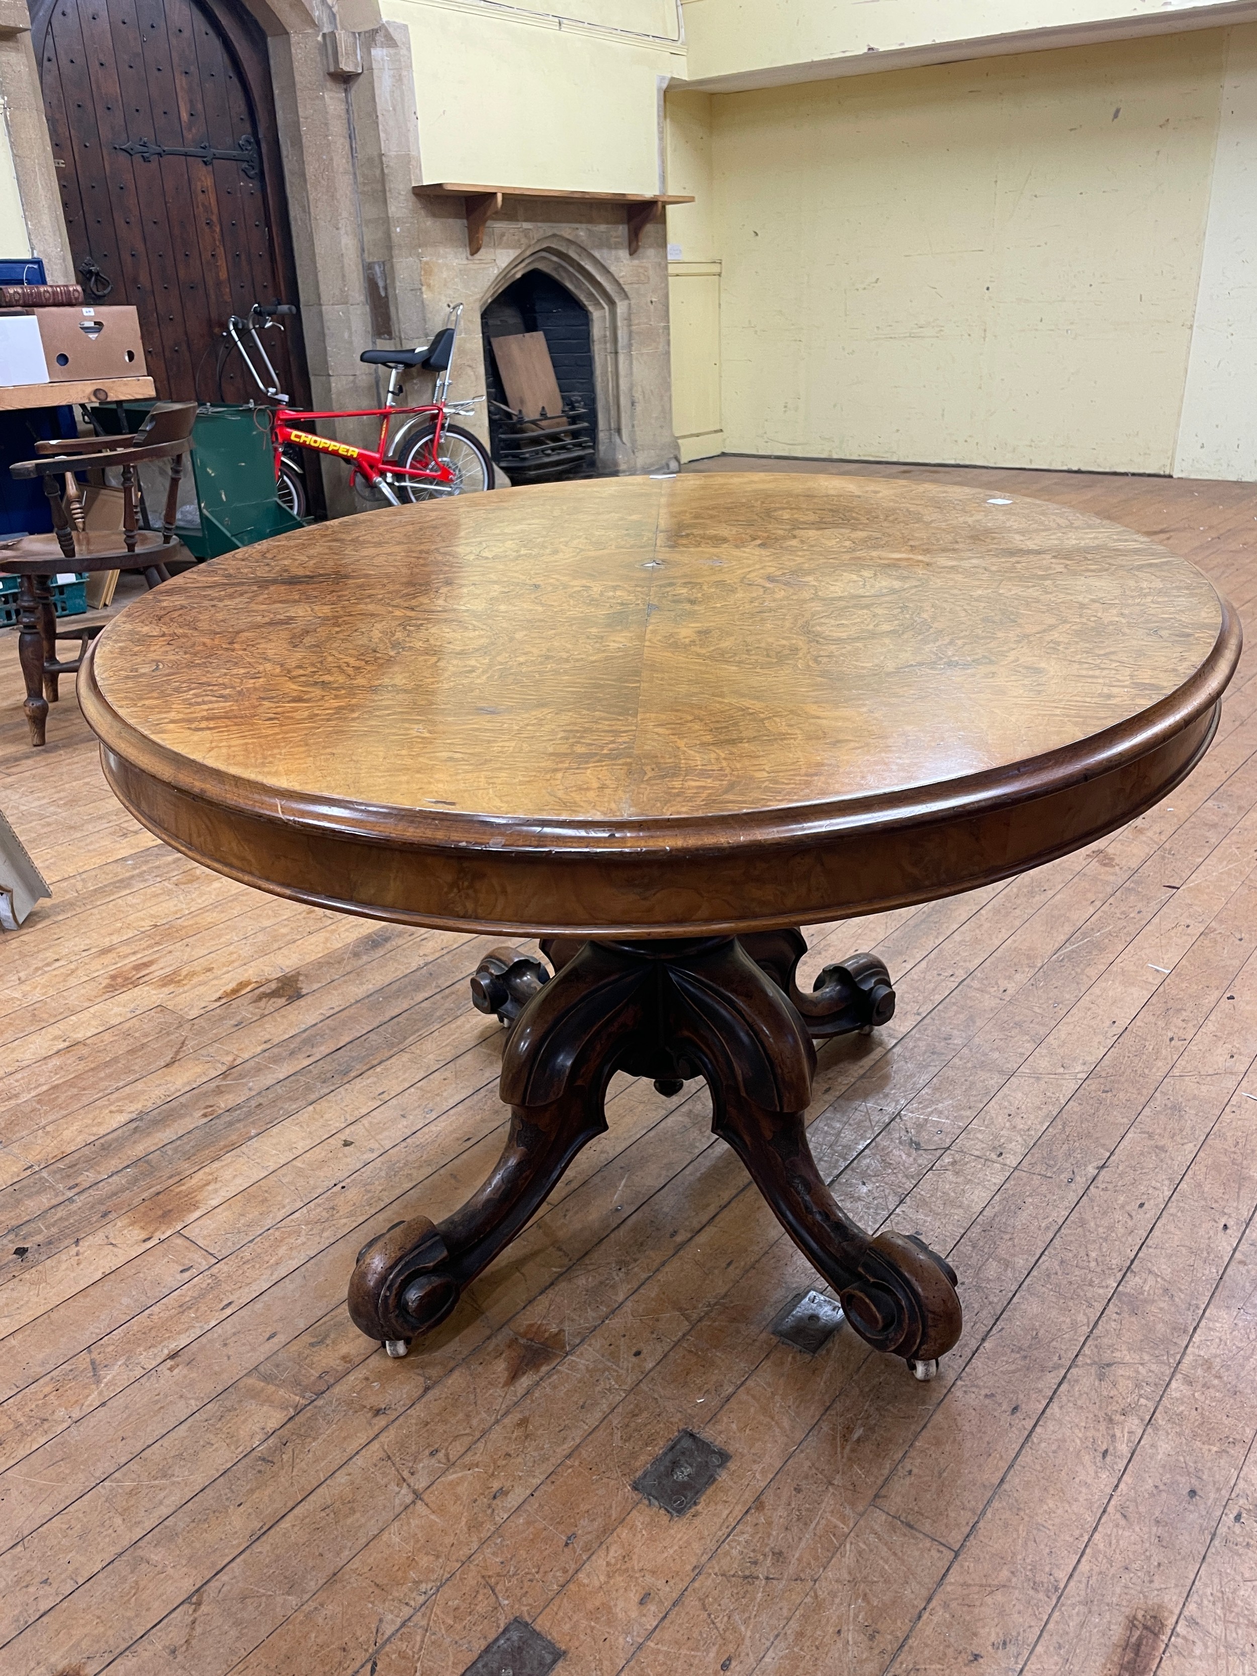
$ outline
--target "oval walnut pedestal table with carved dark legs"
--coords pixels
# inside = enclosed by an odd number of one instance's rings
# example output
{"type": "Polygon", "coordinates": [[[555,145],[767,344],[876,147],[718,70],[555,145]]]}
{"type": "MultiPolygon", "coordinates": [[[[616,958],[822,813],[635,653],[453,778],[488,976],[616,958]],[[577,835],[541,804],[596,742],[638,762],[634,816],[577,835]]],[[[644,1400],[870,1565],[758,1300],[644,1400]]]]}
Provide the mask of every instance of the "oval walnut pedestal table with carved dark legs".
{"type": "Polygon", "coordinates": [[[453,1217],[359,1257],[402,1354],[605,1130],[615,1069],[706,1078],[717,1135],[870,1344],[929,1378],[955,1274],[866,1235],[803,1126],[813,1039],[880,960],[799,925],[1019,873],[1156,803],[1239,657],[1180,558],[1079,513],[830,476],[630,478],[323,525],[127,607],[79,692],[122,803],[261,890],[540,935],[473,980],[513,1121],[453,1217]]]}

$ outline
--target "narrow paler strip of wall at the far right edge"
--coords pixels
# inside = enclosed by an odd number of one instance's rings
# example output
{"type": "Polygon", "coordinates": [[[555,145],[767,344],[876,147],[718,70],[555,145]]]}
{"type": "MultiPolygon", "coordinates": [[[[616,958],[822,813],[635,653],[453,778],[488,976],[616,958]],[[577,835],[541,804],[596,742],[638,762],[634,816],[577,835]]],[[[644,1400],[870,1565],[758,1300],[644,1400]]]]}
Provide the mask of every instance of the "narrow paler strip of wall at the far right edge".
{"type": "Polygon", "coordinates": [[[1232,32],[1173,463],[1257,479],[1257,28],[1232,32]]]}

